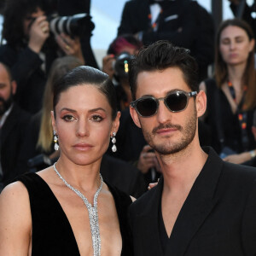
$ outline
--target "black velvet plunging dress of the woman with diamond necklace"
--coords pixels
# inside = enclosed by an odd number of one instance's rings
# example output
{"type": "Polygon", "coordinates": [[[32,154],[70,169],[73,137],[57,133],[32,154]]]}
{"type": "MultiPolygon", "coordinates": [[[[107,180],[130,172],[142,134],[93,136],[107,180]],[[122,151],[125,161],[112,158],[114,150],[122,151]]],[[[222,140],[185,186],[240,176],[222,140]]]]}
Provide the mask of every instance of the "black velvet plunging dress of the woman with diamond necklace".
{"type": "MultiPolygon", "coordinates": [[[[61,204],[38,174],[30,172],[16,179],[24,183],[32,212],[32,256],[79,256],[79,247],[61,204]]],[[[121,256],[132,256],[128,207],[131,197],[108,185],[113,195],[122,236],[121,256]]]]}

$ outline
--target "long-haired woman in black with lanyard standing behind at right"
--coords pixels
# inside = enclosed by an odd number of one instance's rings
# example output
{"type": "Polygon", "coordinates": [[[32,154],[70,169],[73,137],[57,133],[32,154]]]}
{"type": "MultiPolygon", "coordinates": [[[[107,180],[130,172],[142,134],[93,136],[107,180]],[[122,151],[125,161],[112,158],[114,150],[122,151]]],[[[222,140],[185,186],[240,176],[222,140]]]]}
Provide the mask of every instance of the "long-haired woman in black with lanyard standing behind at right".
{"type": "Polygon", "coordinates": [[[215,76],[201,83],[207,91],[207,122],[212,146],[224,160],[237,164],[256,155],[253,111],[256,106],[254,35],[243,20],[224,20],[219,26],[215,76]]]}

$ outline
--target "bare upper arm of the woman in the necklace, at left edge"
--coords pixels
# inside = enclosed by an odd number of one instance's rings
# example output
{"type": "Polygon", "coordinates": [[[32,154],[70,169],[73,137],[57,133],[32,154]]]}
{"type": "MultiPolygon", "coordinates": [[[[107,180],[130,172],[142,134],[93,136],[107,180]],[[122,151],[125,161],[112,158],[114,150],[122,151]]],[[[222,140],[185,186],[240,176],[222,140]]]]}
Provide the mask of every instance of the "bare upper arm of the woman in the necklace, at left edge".
{"type": "Polygon", "coordinates": [[[0,195],[0,255],[30,255],[32,218],[24,185],[12,183],[0,195]]]}

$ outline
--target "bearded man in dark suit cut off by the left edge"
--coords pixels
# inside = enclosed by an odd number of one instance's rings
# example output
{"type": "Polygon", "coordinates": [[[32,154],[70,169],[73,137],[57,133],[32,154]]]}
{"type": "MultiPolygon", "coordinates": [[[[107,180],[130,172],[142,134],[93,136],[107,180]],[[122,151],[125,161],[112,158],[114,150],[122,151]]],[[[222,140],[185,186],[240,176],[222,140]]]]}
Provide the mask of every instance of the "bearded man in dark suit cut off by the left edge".
{"type": "MultiPolygon", "coordinates": [[[[16,83],[9,68],[0,63],[0,183],[7,185],[18,174],[16,163],[20,146],[24,143],[26,125],[30,114],[15,102],[16,83]]],[[[0,189],[1,190],[1,189],[0,189]]]]}

